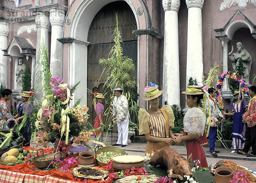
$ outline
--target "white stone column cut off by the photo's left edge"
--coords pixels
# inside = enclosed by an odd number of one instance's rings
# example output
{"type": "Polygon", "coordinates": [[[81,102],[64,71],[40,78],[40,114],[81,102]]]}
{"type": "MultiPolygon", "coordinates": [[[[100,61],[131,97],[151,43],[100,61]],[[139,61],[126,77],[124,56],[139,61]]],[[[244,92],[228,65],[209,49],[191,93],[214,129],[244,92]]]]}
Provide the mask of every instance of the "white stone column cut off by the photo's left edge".
{"type": "Polygon", "coordinates": [[[0,84],[3,82],[3,86],[7,87],[7,57],[3,56],[2,49],[7,48],[9,34],[9,23],[0,21],[0,84]]]}

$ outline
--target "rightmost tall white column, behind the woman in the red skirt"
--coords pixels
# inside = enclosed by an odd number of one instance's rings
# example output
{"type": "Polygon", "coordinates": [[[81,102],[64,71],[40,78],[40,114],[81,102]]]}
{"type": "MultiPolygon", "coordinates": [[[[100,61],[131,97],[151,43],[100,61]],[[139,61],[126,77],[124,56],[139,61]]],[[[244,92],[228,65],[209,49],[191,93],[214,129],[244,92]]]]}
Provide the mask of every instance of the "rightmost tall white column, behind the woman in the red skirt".
{"type": "Polygon", "coordinates": [[[188,37],[186,85],[189,77],[203,82],[202,8],[204,0],[186,0],[188,8],[188,37]]]}

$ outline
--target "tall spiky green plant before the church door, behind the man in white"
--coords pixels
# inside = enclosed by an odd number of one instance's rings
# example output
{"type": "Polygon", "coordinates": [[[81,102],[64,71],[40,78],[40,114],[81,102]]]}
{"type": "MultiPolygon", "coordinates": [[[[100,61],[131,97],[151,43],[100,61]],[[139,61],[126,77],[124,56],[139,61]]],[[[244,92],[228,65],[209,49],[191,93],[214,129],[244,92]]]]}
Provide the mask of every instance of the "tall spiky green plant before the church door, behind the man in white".
{"type": "MultiPolygon", "coordinates": [[[[111,51],[109,52],[109,58],[102,58],[99,60],[99,64],[104,67],[102,72],[107,75],[107,81],[105,85],[111,89],[113,93],[113,89],[115,87],[121,87],[124,90],[123,95],[126,96],[129,105],[129,112],[131,114],[131,119],[137,120],[138,109],[137,109],[137,98],[138,93],[135,87],[135,79],[134,79],[134,63],[131,58],[123,55],[122,50],[122,38],[118,29],[118,18],[116,15],[116,26],[113,33],[113,41],[114,45],[111,47],[111,51]],[[134,93],[136,90],[136,94],[134,93]]],[[[102,77],[101,76],[101,77],[102,77]]],[[[105,115],[109,116],[107,119],[108,129],[111,129],[111,119],[112,115],[112,103],[113,95],[111,96],[110,101],[106,101],[106,105],[109,107],[105,110],[105,115]]],[[[130,123],[131,128],[138,129],[137,121],[133,121],[130,123]]]]}

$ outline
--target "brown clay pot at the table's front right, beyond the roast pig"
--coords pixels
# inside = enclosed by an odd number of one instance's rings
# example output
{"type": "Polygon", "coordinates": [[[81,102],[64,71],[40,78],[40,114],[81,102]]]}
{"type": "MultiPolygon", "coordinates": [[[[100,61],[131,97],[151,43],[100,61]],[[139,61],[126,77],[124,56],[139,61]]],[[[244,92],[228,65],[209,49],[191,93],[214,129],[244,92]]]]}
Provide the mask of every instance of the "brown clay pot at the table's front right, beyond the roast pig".
{"type": "Polygon", "coordinates": [[[232,179],[234,171],[232,168],[222,166],[215,169],[213,180],[215,183],[228,183],[232,179]]]}

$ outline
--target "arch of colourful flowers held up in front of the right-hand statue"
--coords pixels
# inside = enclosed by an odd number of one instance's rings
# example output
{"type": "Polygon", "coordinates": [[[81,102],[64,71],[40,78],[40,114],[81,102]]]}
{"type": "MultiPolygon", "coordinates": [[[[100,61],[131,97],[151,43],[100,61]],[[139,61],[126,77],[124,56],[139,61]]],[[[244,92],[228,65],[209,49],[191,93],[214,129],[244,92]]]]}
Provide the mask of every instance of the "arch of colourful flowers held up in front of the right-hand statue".
{"type": "Polygon", "coordinates": [[[224,109],[224,105],[223,105],[223,99],[222,99],[222,92],[221,92],[221,88],[223,86],[223,82],[224,80],[230,78],[230,79],[234,79],[237,82],[239,82],[239,87],[240,90],[242,92],[245,92],[248,96],[249,96],[249,86],[248,84],[241,78],[240,75],[238,75],[237,73],[232,73],[230,71],[228,72],[224,72],[222,73],[220,76],[218,76],[218,82],[216,85],[216,89],[218,91],[218,95],[217,95],[217,99],[218,99],[218,105],[220,109],[224,109]]]}

